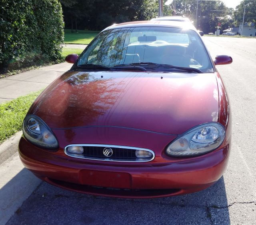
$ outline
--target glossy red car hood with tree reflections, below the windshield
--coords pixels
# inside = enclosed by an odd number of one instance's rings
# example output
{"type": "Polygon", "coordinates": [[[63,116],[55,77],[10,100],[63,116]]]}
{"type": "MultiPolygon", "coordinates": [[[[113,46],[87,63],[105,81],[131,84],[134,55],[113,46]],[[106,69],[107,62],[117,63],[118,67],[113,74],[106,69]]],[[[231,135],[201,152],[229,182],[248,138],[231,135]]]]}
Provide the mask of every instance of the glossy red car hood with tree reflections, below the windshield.
{"type": "Polygon", "coordinates": [[[216,74],[69,71],[31,106],[50,128],[111,126],[180,134],[218,121],[216,74]]]}

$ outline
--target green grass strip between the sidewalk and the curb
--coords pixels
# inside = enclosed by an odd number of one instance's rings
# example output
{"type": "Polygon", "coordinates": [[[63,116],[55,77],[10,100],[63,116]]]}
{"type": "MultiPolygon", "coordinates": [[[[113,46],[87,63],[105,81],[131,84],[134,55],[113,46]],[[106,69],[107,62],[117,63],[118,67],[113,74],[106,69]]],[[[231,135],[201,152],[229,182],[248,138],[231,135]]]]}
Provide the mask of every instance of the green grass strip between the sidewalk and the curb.
{"type": "Polygon", "coordinates": [[[42,90],[0,104],[0,143],[22,129],[28,109],[41,92],[42,90]]]}

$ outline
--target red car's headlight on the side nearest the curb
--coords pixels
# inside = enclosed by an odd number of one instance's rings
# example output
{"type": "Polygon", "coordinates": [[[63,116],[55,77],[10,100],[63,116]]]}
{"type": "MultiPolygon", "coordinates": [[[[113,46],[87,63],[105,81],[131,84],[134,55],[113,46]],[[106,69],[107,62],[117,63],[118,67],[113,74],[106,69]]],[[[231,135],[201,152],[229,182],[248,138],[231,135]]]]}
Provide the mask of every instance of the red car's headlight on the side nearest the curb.
{"type": "Polygon", "coordinates": [[[58,141],[51,129],[36,115],[27,115],[22,125],[23,134],[35,145],[45,148],[58,147],[58,141]]]}

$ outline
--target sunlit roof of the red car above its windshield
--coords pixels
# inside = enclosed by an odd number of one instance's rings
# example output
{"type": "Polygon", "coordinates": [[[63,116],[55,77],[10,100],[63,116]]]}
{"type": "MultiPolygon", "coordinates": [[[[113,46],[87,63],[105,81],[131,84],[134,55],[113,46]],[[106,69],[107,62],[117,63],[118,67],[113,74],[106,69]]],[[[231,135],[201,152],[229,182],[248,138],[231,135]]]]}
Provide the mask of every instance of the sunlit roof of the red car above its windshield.
{"type": "Polygon", "coordinates": [[[186,28],[189,30],[195,30],[196,28],[192,23],[185,23],[181,21],[173,20],[146,20],[146,21],[134,21],[126,22],[122,24],[113,24],[105,28],[104,30],[117,29],[117,28],[129,28],[129,27],[176,27],[176,28],[186,28]]]}

